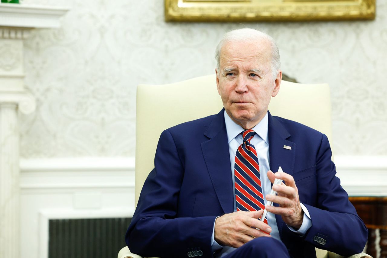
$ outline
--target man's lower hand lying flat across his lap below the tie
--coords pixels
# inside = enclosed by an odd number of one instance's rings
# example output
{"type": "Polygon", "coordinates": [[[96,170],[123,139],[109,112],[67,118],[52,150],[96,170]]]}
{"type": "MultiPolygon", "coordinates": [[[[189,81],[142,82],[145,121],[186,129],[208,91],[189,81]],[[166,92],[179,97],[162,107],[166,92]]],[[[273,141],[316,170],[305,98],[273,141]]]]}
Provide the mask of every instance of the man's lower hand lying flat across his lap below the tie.
{"type": "Polygon", "coordinates": [[[214,238],[218,244],[238,248],[254,238],[265,236],[271,227],[258,220],[263,210],[244,212],[238,211],[224,214],[215,220],[214,238]],[[259,230],[258,230],[259,229],[259,230]]]}

